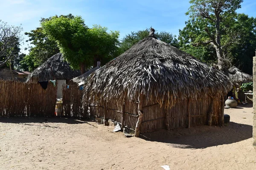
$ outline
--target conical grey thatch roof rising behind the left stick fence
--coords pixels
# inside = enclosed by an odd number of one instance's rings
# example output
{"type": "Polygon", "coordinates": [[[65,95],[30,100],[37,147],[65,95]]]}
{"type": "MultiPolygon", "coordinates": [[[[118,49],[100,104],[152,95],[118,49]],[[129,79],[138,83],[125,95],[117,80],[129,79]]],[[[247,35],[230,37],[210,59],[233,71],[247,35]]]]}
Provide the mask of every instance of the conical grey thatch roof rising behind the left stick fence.
{"type": "Polygon", "coordinates": [[[72,79],[80,75],[80,71],[72,70],[70,65],[63,60],[61,53],[53,55],[42,65],[29,74],[26,82],[49,81],[50,79],[72,79]]]}

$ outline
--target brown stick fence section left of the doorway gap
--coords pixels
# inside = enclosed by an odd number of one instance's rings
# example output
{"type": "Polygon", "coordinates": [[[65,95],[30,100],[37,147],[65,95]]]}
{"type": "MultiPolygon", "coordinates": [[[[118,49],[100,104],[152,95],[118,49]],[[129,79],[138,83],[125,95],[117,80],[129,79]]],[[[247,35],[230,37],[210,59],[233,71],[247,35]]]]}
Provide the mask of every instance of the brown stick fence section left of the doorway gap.
{"type": "Polygon", "coordinates": [[[0,80],[0,116],[54,116],[57,88],[0,80]]]}

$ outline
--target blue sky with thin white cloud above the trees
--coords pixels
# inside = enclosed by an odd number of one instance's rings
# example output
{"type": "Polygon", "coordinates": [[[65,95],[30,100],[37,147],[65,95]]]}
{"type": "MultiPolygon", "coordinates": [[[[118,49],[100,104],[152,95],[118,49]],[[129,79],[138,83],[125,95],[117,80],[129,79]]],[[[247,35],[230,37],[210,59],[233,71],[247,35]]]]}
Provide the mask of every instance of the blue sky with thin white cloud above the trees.
{"type": "MultiPolygon", "coordinates": [[[[41,17],[55,14],[80,15],[85,24],[120,31],[120,38],[131,31],[153,27],[178,35],[185,26],[189,0],[0,0],[0,20],[22,24],[23,32],[35,29],[41,17]]],[[[256,0],[244,0],[239,13],[256,17],[256,0]]],[[[28,37],[24,35],[24,39],[28,37]]],[[[28,44],[25,42],[22,48],[28,44]]],[[[23,51],[25,52],[25,51],[23,51]]]]}

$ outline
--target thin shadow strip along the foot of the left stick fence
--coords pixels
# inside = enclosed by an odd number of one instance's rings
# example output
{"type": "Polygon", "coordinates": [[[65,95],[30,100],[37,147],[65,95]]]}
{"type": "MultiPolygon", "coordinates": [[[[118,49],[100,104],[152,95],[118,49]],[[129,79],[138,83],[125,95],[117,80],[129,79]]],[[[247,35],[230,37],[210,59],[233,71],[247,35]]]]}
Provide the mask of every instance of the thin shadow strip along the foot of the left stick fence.
{"type": "MultiPolygon", "coordinates": [[[[73,118],[59,118],[59,117],[9,117],[9,118],[0,118],[0,122],[2,123],[17,123],[23,125],[32,125],[31,123],[41,123],[42,125],[33,125],[33,126],[45,126],[45,127],[52,127],[47,125],[46,123],[67,123],[67,124],[83,124],[88,122],[93,122],[93,120],[80,120],[80,119],[73,119],[73,118]]],[[[91,125],[94,126],[94,125],[91,125]]],[[[96,126],[94,126],[96,127],[96,126]]],[[[59,128],[59,127],[54,127],[59,128]]]]}

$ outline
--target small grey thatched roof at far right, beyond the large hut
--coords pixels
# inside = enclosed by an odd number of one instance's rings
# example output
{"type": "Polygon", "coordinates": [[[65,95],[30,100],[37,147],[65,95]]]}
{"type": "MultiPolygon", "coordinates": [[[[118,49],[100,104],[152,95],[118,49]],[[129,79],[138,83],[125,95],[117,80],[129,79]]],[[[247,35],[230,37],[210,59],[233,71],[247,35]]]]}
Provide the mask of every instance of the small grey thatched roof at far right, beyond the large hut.
{"type": "Polygon", "coordinates": [[[253,81],[253,76],[242,72],[235,66],[228,69],[228,77],[231,79],[231,81],[234,84],[241,84],[241,83],[253,81]]]}

